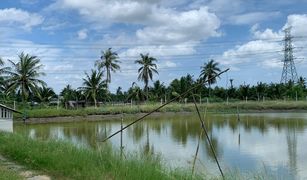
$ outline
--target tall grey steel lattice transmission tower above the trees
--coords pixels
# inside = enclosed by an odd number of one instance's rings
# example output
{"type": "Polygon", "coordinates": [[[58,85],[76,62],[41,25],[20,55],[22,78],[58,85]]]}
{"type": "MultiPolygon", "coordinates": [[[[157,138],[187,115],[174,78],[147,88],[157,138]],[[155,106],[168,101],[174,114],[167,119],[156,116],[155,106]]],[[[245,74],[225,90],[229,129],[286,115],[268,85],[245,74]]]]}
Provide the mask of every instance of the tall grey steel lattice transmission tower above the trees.
{"type": "Polygon", "coordinates": [[[292,81],[293,83],[298,82],[296,68],[293,58],[293,46],[292,46],[292,36],[291,27],[284,30],[285,32],[285,49],[284,49],[284,67],[281,75],[280,83],[288,83],[292,81]]]}

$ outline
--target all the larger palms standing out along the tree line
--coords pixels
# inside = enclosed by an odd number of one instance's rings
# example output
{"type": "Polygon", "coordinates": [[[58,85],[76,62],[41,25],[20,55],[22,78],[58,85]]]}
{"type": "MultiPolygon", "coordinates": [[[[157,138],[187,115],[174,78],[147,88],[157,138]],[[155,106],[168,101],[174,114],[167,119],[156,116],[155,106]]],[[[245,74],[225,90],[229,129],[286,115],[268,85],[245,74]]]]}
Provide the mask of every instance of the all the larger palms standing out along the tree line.
{"type": "MultiPolygon", "coordinates": [[[[20,97],[22,102],[39,99],[42,102],[50,101],[55,97],[55,93],[47,84],[41,80],[41,76],[45,73],[42,72],[41,60],[37,56],[21,53],[18,55],[16,62],[8,60],[9,67],[4,67],[4,61],[0,59],[0,86],[2,94],[5,96],[20,97]]],[[[90,99],[97,106],[97,97],[108,94],[108,87],[111,83],[111,73],[120,71],[119,56],[116,52],[108,48],[101,52],[101,57],[94,64],[94,69],[90,73],[85,73],[82,79],[82,87],[79,87],[79,94],[90,99]]],[[[149,82],[153,80],[154,74],[158,74],[157,59],[149,56],[149,54],[140,54],[140,58],[135,61],[139,65],[138,80],[144,83],[144,91],[146,92],[146,100],[149,99],[149,82]]],[[[217,67],[218,63],[213,60],[209,61],[202,67],[201,78],[211,78],[218,74],[220,69],[217,67]]],[[[209,85],[215,83],[216,79],[210,80],[209,85]]],[[[133,93],[140,93],[143,90],[139,88],[136,83],[133,83],[133,93]]],[[[66,100],[72,100],[71,87],[65,87],[61,95],[66,100]],[[66,97],[66,98],[65,98],[66,97]]],[[[16,99],[16,98],[15,98],[16,99]]]]}

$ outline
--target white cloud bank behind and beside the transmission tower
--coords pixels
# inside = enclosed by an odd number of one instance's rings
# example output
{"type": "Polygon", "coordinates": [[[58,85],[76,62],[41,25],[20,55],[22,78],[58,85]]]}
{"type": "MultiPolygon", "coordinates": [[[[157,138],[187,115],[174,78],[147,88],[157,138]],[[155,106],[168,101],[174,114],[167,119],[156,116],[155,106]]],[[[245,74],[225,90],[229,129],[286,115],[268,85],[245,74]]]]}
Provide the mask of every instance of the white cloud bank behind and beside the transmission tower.
{"type": "MultiPolygon", "coordinates": [[[[226,66],[239,67],[245,63],[249,66],[257,65],[261,68],[282,68],[283,60],[283,29],[292,26],[294,47],[306,47],[307,42],[302,37],[307,37],[307,15],[289,15],[285,26],[278,31],[272,29],[258,30],[258,26],[251,28],[254,40],[226,50],[222,55],[214,57],[226,66]]],[[[295,57],[307,56],[304,51],[295,51],[295,57]]],[[[297,61],[297,60],[296,60],[297,61]]],[[[301,63],[305,63],[301,61],[301,63]]],[[[301,65],[300,65],[301,66],[301,65]]]]}

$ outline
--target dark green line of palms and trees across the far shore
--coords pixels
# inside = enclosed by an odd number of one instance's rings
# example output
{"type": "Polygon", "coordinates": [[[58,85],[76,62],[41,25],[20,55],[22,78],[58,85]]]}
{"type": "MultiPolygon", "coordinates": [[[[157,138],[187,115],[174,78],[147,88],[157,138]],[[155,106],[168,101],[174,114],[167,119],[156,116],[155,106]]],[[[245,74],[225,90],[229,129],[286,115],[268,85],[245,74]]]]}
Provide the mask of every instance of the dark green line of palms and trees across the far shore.
{"type": "MultiPolygon", "coordinates": [[[[23,103],[36,102],[49,104],[54,99],[59,99],[63,106],[67,107],[69,101],[84,101],[97,107],[101,102],[134,102],[142,103],[149,101],[167,101],[187,91],[202,80],[208,80],[206,84],[195,89],[193,94],[200,100],[225,101],[227,100],[284,100],[305,99],[307,89],[305,78],[300,77],[296,83],[262,83],[256,85],[243,84],[233,86],[230,79],[230,87],[212,87],[219,79],[214,78],[221,69],[214,60],[209,60],[200,67],[200,76],[194,78],[190,74],[174,79],[166,86],[163,82],[153,81],[154,75],[158,73],[157,59],[149,54],[140,54],[135,64],[139,66],[138,81],[143,82],[141,87],[133,82],[127,91],[118,87],[115,93],[109,91],[112,82],[112,73],[120,70],[121,61],[116,52],[111,48],[101,52],[99,60],[93,65],[93,69],[84,74],[82,86],[73,89],[70,85],[65,86],[59,95],[51,87],[41,80],[45,75],[42,72],[41,60],[37,56],[21,53],[16,61],[8,60],[10,66],[5,66],[4,60],[0,58],[0,95],[3,102],[17,101],[23,103]],[[100,102],[100,103],[99,103],[100,102]]],[[[181,98],[180,102],[192,101],[192,94],[181,98]]]]}

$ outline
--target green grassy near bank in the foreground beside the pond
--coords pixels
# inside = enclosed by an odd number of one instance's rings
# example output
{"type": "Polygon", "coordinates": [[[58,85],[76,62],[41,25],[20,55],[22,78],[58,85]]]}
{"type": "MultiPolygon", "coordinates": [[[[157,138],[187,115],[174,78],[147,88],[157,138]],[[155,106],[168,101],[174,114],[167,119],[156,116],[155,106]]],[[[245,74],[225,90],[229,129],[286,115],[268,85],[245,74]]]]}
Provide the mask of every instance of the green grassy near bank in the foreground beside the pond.
{"type": "Polygon", "coordinates": [[[0,154],[56,179],[197,179],[190,173],[165,168],[157,157],[128,154],[122,160],[107,145],[92,150],[1,132],[0,142],[0,154]]]}

